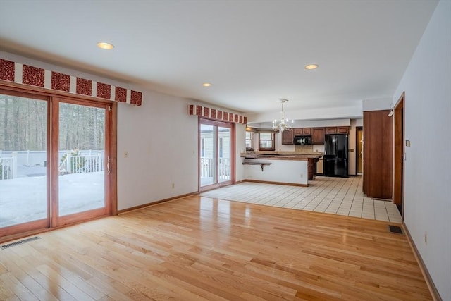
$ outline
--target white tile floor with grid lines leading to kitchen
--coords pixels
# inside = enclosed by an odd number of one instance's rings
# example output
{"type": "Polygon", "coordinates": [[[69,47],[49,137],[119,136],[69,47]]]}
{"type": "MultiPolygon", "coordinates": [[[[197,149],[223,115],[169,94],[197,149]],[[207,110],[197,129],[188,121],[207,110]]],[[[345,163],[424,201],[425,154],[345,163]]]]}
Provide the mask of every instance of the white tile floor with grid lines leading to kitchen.
{"type": "Polygon", "coordinates": [[[229,201],[402,223],[402,217],[395,204],[364,196],[362,176],[350,178],[318,176],[315,180],[309,181],[309,187],[244,182],[202,192],[201,195],[229,201]]]}

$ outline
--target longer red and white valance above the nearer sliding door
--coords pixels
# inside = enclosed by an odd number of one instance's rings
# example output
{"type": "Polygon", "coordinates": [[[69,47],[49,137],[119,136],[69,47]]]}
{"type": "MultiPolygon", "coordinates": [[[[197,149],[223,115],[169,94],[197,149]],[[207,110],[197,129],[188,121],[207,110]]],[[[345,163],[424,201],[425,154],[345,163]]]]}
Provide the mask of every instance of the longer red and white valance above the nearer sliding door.
{"type": "Polygon", "coordinates": [[[0,80],[140,106],[142,93],[0,59],[0,80]]]}

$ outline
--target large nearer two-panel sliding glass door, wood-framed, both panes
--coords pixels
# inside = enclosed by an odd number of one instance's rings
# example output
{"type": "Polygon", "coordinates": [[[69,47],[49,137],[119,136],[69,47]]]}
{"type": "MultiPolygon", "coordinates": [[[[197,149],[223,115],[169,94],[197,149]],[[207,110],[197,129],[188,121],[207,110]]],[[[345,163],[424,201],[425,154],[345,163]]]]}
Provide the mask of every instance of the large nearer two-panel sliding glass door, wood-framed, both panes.
{"type": "Polygon", "coordinates": [[[0,238],[111,214],[111,104],[0,90],[0,238]]]}

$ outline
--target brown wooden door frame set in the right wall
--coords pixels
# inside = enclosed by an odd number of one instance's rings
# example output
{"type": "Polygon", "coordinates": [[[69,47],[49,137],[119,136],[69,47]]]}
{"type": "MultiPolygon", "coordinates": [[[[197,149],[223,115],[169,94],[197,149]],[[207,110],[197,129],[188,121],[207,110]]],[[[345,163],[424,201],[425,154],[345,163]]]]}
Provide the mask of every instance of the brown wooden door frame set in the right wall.
{"type": "Polygon", "coordinates": [[[393,203],[404,217],[404,136],[405,92],[402,92],[393,109],[393,203]]]}

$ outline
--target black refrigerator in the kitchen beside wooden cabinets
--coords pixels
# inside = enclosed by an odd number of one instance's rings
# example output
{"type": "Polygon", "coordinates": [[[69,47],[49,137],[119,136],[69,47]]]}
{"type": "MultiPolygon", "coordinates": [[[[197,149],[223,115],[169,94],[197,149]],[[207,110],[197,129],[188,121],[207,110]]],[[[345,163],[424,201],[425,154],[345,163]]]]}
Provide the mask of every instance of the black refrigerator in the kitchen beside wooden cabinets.
{"type": "Polygon", "coordinates": [[[323,175],[347,177],[347,134],[328,134],[324,137],[323,175]]]}

